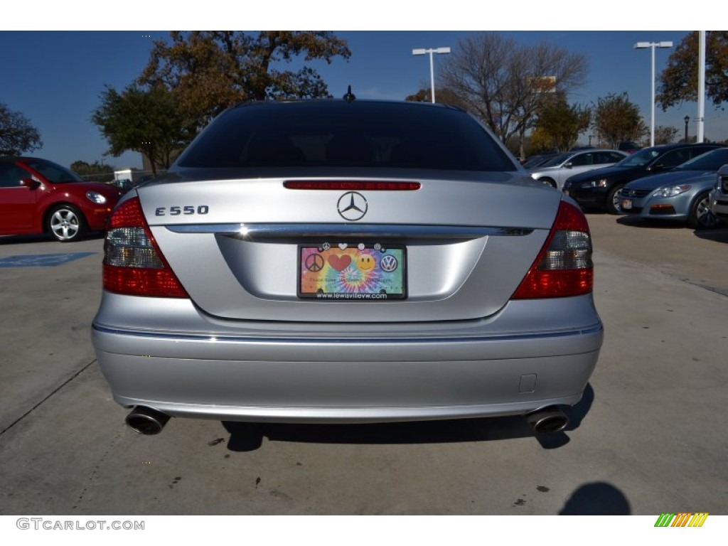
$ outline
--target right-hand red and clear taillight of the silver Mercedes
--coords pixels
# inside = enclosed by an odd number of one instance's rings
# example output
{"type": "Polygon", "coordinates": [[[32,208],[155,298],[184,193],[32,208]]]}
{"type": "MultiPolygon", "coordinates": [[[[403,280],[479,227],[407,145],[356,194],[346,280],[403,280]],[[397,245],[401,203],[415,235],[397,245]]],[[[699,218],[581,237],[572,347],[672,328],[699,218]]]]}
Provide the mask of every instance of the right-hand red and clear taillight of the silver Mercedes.
{"type": "Polygon", "coordinates": [[[551,232],[512,299],[562,298],[591,293],[594,269],[589,224],[562,201],[551,232]]]}

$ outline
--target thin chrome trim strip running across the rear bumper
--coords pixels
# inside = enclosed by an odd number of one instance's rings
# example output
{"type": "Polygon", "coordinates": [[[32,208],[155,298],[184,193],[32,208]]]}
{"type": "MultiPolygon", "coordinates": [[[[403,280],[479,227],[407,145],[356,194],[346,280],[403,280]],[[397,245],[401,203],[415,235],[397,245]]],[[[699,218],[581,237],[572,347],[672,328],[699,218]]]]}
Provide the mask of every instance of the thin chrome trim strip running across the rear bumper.
{"type": "Polygon", "coordinates": [[[594,333],[600,333],[604,330],[601,324],[594,325],[590,328],[582,328],[579,330],[570,330],[563,332],[550,333],[518,333],[502,336],[473,336],[473,337],[422,337],[422,338],[280,338],[280,337],[245,337],[245,336],[209,336],[205,334],[182,334],[182,333],[159,333],[145,332],[135,330],[124,330],[121,328],[108,328],[93,324],[92,328],[100,333],[110,333],[117,336],[132,336],[146,339],[168,339],[172,341],[207,341],[210,343],[219,343],[221,341],[229,343],[273,343],[273,344],[361,344],[361,343],[381,343],[381,344],[400,344],[400,343],[479,343],[483,341],[523,341],[524,339],[549,339],[564,338],[569,336],[588,336],[594,333]]]}

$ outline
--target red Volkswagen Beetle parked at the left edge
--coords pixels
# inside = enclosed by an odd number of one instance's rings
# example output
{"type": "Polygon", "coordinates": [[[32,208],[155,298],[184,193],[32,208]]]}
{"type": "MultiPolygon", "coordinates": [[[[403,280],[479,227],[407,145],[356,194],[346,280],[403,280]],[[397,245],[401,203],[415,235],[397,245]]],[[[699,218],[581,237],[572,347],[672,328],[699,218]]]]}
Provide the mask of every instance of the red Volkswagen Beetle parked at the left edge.
{"type": "Polygon", "coordinates": [[[0,234],[49,233],[76,241],[106,228],[121,195],[47,159],[0,157],[0,234]]]}

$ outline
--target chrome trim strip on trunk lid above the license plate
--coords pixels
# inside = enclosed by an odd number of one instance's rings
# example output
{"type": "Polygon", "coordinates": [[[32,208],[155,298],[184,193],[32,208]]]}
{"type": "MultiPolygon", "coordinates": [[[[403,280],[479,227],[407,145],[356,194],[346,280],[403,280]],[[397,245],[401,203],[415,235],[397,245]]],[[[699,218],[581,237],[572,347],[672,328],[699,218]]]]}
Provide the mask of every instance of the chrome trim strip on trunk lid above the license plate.
{"type": "Polygon", "coordinates": [[[399,224],[351,223],[208,223],[165,226],[174,233],[214,233],[242,239],[283,239],[303,237],[409,237],[414,239],[475,239],[489,236],[522,236],[532,228],[489,226],[413,226],[399,224]]]}

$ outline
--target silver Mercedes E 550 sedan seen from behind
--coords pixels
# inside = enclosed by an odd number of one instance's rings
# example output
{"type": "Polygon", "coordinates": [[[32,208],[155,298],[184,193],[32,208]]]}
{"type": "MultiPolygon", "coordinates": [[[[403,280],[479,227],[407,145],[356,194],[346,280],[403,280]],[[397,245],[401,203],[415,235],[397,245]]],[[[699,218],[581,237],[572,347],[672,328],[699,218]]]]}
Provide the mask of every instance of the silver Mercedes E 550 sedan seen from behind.
{"type": "Polygon", "coordinates": [[[603,339],[589,226],[470,114],[246,103],[127,193],[92,325],[127,424],[568,424],[603,339]]]}

